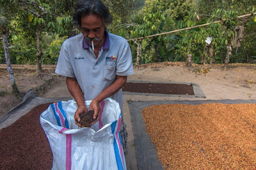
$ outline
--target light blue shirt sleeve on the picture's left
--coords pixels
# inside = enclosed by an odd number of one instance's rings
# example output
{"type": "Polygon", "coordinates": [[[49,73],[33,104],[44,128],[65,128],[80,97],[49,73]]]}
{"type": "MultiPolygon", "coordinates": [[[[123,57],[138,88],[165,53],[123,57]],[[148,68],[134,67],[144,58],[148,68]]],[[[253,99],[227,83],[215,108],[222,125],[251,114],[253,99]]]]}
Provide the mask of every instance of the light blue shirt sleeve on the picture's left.
{"type": "Polygon", "coordinates": [[[68,43],[65,41],[61,46],[55,72],[65,77],[75,77],[70,56],[68,55],[68,43]]]}

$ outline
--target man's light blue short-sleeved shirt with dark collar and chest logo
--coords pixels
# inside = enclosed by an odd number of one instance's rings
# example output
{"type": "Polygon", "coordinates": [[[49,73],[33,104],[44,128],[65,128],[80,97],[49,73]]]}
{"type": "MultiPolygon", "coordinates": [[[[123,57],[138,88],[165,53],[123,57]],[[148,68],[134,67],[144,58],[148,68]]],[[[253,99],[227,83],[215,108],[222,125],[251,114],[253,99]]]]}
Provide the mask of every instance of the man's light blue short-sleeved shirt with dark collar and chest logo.
{"type": "MultiPolygon", "coordinates": [[[[129,43],[121,36],[106,31],[106,40],[96,58],[83,34],[65,40],[55,72],[65,77],[76,77],[84,100],[93,100],[116,80],[116,75],[134,73],[129,43]]],[[[112,95],[122,110],[122,89],[112,95]]]]}

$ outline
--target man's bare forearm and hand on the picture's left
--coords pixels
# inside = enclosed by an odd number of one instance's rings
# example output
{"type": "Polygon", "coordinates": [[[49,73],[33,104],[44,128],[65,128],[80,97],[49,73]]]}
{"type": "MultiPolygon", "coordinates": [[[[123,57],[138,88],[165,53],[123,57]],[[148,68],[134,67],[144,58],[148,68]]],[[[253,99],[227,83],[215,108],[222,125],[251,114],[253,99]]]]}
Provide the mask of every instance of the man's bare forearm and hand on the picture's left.
{"type": "Polygon", "coordinates": [[[82,90],[81,90],[81,88],[80,88],[80,86],[77,82],[76,77],[67,77],[66,84],[67,84],[67,88],[68,88],[69,93],[76,100],[77,107],[78,107],[76,112],[75,112],[75,116],[74,116],[75,123],[77,125],[79,125],[79,127],[81,127],[81,124],[78,123],[80,121],[79,114],[81,114],[82,112],[88,112],[87,108],[86,108],[86,105],[84,103],[83,92],[82,92],[82,90]]]}

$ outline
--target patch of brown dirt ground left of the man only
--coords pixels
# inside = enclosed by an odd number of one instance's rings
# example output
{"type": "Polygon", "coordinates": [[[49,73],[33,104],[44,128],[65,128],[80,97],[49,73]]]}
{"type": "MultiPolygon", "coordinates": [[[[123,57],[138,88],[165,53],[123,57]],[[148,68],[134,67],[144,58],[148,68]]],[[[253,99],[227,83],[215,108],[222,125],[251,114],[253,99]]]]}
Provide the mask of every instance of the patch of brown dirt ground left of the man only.
{"type": "MultiPolygon", "coordinates": [[[[14,67],[13,72],[20,97],[12,93],[8,72],[0,69],[0,119],[13,107],[19,105],[29,90],[33,90],[36,95],[42,97],[46,91],[51,93],[52,87],[57,86],[61,81],[65,81],[65,77],[58,76],[54,73],[54,70],[37,74],[35,70],[15,69],[14,67]]],[[[52,96],[54,97],[54,94],[52,96]]]]}

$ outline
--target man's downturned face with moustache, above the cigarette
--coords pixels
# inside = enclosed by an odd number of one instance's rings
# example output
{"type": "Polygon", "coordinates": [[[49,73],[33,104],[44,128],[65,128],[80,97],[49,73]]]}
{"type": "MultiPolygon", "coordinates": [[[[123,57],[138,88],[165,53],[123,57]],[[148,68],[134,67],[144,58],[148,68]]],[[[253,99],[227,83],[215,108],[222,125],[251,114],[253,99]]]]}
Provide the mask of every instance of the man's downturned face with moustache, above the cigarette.
{"type": "Polygon", "coordinates": [[[105,26],[100,15],[81,16],[81,31],[89,45],[93,40],[95,47],[102,47],[105,41],[104,30],[105,26]]]}

